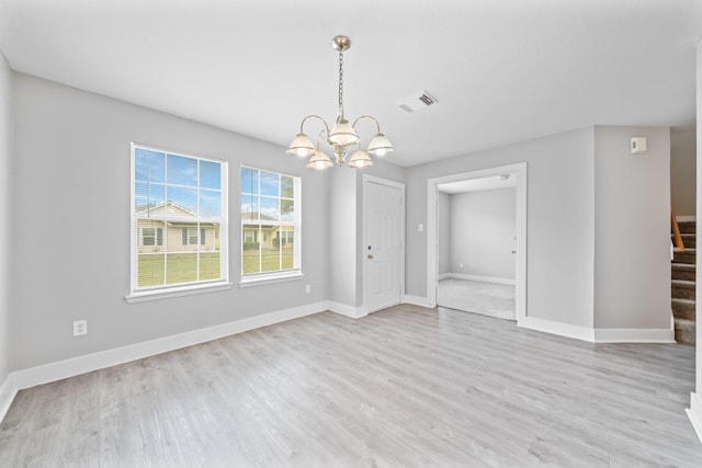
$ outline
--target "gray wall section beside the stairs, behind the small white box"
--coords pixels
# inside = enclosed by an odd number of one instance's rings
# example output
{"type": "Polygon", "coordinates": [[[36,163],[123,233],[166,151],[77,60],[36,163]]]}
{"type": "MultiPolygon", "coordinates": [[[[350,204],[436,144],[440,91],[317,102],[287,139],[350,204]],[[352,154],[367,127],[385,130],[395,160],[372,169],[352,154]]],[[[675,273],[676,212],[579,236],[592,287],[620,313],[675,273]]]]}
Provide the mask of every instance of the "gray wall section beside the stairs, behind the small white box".
{"type": "Polygon", "coordinates": [[[670,130],[595,129],[595,327],[670,326],[670,130]],[[631,137],[647,151],[632,155],[631,137]]]}

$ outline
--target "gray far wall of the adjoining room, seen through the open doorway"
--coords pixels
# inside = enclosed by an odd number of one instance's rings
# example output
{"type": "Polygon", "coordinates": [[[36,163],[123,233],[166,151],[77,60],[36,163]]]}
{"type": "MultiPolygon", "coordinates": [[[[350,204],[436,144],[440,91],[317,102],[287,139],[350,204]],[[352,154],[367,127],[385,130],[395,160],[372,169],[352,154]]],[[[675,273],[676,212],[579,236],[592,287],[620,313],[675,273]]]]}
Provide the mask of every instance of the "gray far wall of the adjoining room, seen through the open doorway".
{"type": "Polygon", "coordinates": [[[516,217],[514,189],[452,195],[451,272],[514,279],[516,217]]]}

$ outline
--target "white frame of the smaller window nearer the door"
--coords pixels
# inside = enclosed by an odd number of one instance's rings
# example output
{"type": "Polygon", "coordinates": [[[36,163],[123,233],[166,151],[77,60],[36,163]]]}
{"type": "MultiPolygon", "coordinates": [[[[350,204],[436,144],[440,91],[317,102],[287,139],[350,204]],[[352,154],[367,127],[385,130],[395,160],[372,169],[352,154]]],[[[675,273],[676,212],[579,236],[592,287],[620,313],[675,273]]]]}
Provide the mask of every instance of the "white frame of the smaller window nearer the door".
{"type": "MultiPolygon", "coordinates": [[[[261,199],[261,190],[260,190],[260,184],[261,184],[261,178],[260,174],[261,172],[268,172],[270,174],[276,174],[280,176],[287,176],[287,178],[292,178],[293,179],[293,203],[294,203],[294,216],[293,216],[293,220],[292,221],[280,221],[280,220],[272,220],[272,221],[263,221],[260,220],[258,221],[258,229],[259,229],[259,236],[257,236],[258,239],[262,239],[262,236],[260,233],[260,228],[264,227],[264,226],[278,226],[278,225],[284,225],[284,226],[292,226],[293,227],[293,238],[294,238],[294,246],[293,246],[293,269],[291,270],[282,270],[282,271],[275,271],[275,272],[264,272],[264,273],[248,273],[245,274],[244,273],[244,242],[245,242],[245,235],[244,235],[244,226],[245,226],[245,219],[241,216],[241,186],[239,185],[239,206],[238,206],[238,210],[239,210],[239,251],[240,251],[240,261],[239,261],[239,273],[240,273],[240,277],[241,279],[239,281],[239,286],[240,287],[248,287],[248,286],[256,286],[259,284],[265,284],[265,283],[278,283],[278,282],[284,282],[284,281],[293,281],[293,279],[299,279],[303,278],[305,275],[303,273],[303,255],[302,255],[302,239],[303,239],[303,224],[302,224],[302,178],[299,175],[292,175],[292,174],[286,174],[280,171],[275,171],[275,170],[269,170],[269,169],[263,169],[263,168],[257,168],[257,167],[252,167],[252,165],[241,165],[239,168],[239,182],[241,181],[241,171],[244,169],[250,169],[253,171],[259,171],[259,190],[258,190],[258,194],[259,194],[259,209],[260,209],[260,199],[261,199]]],[[[280,199],[280,196],[279,196],[280,199]]],[[[250,220],[248,220],[249,224],[250,220]]],[[[248,229],[252,229],[253,228],[248,228],[248,229]]],[[[259,240],[260,242],[260,240],[259,240]]],[[[259,247],[260,249],[260,247],[259,247]]]]}

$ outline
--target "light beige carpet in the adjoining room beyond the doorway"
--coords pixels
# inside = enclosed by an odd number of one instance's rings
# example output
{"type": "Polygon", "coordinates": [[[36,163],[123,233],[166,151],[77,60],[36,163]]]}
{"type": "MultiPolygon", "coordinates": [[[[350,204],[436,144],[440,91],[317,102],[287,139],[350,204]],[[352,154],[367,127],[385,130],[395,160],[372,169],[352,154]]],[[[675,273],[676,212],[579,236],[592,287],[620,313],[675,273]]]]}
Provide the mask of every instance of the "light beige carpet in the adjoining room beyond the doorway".
{"type": "Polygon", "coordinates": [[[514,286],[477,281],[446,278],[437,287],[437,305],[516,320],[514,286]]]}

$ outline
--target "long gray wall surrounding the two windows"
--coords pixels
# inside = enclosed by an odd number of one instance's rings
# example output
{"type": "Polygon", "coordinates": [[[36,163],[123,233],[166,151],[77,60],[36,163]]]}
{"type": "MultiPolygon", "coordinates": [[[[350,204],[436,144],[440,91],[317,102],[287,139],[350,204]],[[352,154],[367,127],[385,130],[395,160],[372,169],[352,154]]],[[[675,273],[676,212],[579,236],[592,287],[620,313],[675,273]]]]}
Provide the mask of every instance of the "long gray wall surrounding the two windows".
{"type": "MultiPolygon", "coordinates": [[[[15,226],[21,227],[14,248],[14,369],[329,298],[328,176],[308,171],[283,148],[249,137],[20,73],[14,83],[15,226]],[[301,175],[307,276],[126,304],[129,141],[229,161],[229,264],[235,283],[240,276],[240,164],[301,175]],[[305,294],[305,284],[312,285],[312,294],[305,294]],[[72,336],[71,324],[78,319],[88,320],[86,336],[72,336]]],[[[7,128],[4,122],[0,128],[7,128]]],[[[0,216],[8,217],[4,209],[0,216]]]]}

